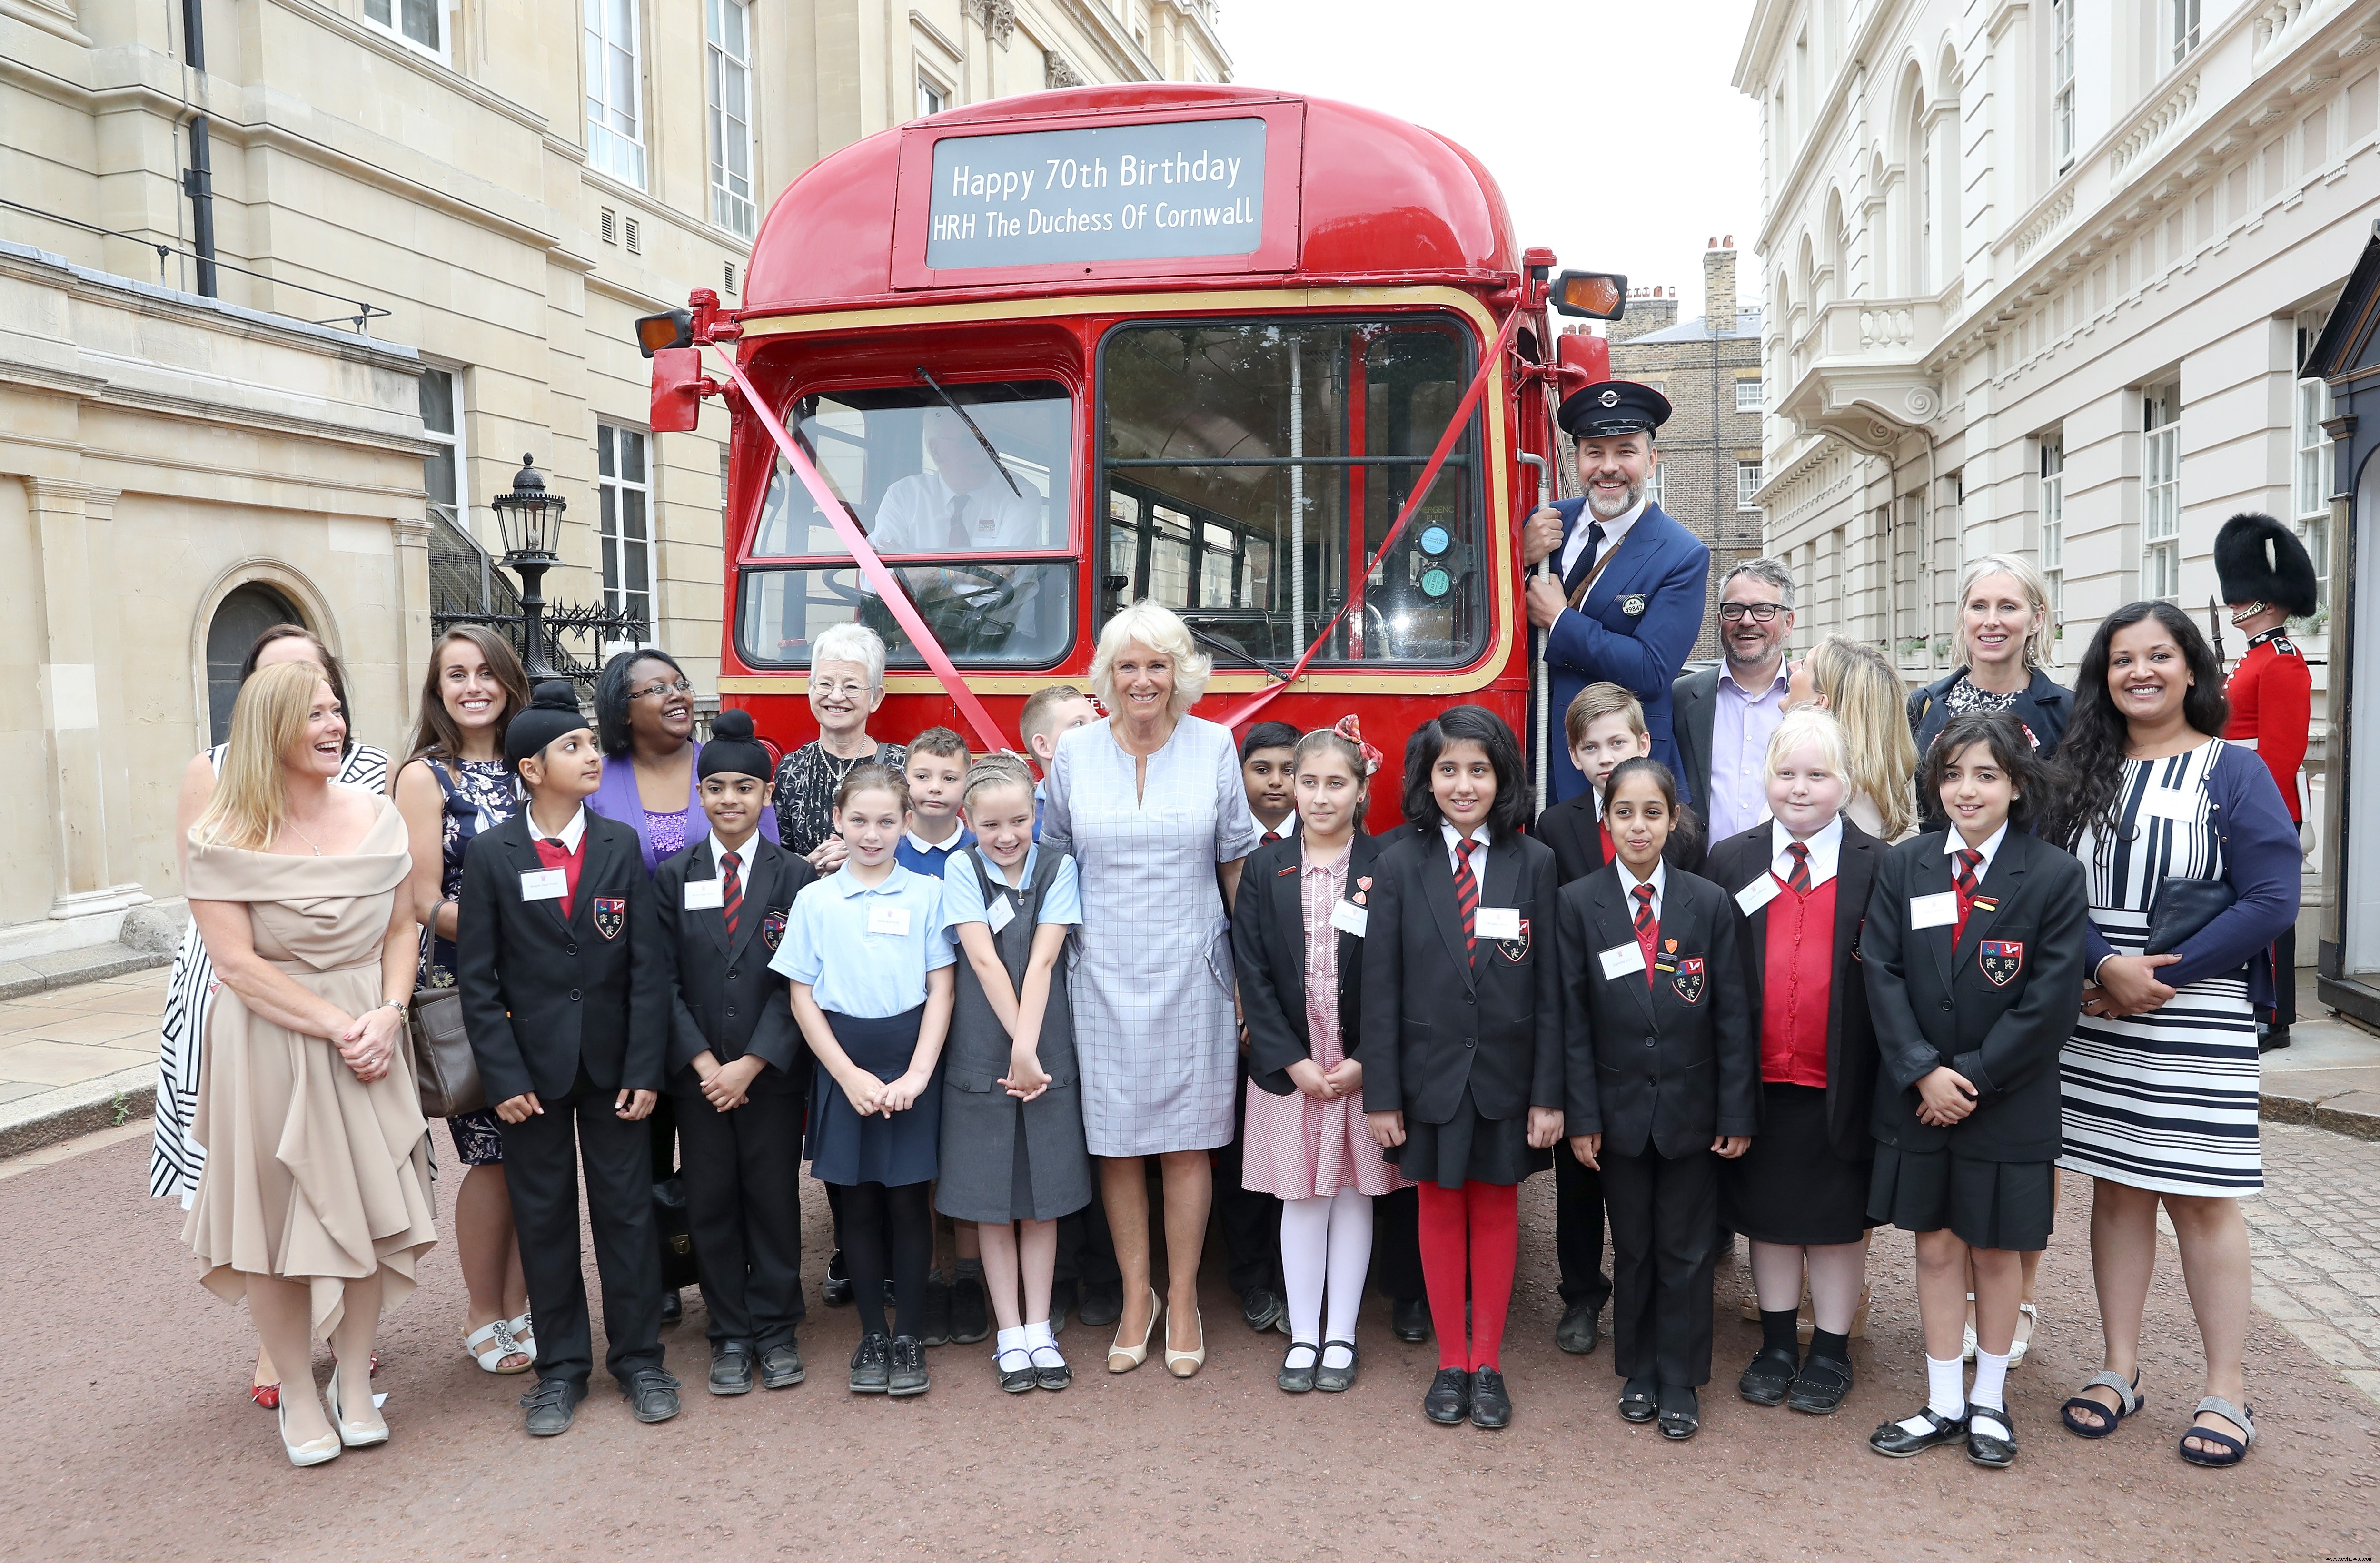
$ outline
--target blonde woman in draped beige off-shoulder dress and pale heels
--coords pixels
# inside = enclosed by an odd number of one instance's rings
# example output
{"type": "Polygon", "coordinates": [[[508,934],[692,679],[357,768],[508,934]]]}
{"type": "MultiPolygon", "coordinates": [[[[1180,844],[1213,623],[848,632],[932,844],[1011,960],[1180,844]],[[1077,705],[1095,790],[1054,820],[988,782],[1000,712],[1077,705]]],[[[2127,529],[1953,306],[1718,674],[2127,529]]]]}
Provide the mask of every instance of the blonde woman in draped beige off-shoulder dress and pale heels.
{"type": "Polygon", "coordinates": [[[345,745],[321,668],[250,678],[186,880],[217,994],[193,1125],[207,1163],[183,1242],[212,1292],[248,1299],[283,1366],[293,1465],[388,1442],[371,1344],[436,1242],[405,1054],[416,930],[397,890],[412,854],[386,797],[333,783],[345,745]],[[314,1335],[338,1354],[328,1416],[295,1373],[314,1335]]]}

